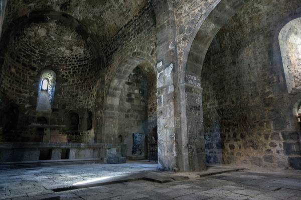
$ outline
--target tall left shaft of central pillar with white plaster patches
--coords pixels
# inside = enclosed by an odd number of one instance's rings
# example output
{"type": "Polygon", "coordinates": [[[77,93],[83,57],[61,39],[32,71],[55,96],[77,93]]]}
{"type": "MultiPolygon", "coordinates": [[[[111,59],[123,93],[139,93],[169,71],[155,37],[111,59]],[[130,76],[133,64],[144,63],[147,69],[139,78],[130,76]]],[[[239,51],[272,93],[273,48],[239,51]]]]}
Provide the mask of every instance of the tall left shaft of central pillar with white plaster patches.
{"type": "Polygon", "coordinates": [[[183,170],[183,155],[177,92],[178,56],[173,4],[169,0],[153,0],[157,20],[157,116],[159,169],[183,170]]]}

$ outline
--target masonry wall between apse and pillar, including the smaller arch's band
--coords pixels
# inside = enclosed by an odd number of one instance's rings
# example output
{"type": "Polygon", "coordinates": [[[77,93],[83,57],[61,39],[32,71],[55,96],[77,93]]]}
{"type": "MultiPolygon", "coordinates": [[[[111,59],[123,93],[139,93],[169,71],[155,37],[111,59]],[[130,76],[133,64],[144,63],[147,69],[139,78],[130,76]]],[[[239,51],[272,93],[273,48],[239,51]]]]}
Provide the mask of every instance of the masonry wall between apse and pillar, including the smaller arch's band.
{"type": "MultiPolygon", "coordinates": [[[[155,26],[154,10],[152,5],[148,3],[138,15],[119,30],[113,37],[111,44],[105,49],[107,68],[104,81],[105,88],[102,94],[105,100],[104,128],[99,139],[101,141],[117,145],[119,130],[117,130],[118,125],[115,123],[118,123],[116,118],[119,114],[120,93],[133,69],[140,65],[143,71],[151,72],[146,76],[156,76],[153,75],[155,74],[156,57],[155,26]]],[[[155,82],[155,80],[152,81],[155,82]]],[[[154,97],[152,99],[154,100],[154,97]]],[[[154,102],[150,105],[156,107],[154,102]]]]}

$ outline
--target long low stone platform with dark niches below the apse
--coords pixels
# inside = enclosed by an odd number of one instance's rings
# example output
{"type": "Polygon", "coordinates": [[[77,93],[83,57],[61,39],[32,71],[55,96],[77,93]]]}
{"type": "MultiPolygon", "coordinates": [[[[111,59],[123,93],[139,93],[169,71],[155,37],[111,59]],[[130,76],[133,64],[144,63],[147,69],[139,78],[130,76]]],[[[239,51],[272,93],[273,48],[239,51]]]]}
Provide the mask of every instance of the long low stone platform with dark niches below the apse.
{"type": "Polygon", "coordinates": [[[1,164],[39,160],[104,160],[105,144],[93,143],[0,143],[1,164]]]}

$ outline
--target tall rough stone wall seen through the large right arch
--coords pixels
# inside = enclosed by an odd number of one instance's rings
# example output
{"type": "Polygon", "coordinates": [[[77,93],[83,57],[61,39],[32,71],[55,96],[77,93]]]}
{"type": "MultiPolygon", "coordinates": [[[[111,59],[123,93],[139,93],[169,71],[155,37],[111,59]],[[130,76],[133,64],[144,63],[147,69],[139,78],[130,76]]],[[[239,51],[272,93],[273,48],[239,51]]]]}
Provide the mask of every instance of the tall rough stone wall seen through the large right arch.
{"type": "Polygon", "coordinates": [[[292,96],[274,60],[283,21],[301,14],[300,6],[297,0],[249,2],[213,40],[201,78],[207,161],[218,162],[213,157],[222,153],[224,163],[284,167],[287,156],[298,154],[298,144],[286,144],[292,137],[297,142],[297,133],[285,131],[292,126],[292,96]]]}

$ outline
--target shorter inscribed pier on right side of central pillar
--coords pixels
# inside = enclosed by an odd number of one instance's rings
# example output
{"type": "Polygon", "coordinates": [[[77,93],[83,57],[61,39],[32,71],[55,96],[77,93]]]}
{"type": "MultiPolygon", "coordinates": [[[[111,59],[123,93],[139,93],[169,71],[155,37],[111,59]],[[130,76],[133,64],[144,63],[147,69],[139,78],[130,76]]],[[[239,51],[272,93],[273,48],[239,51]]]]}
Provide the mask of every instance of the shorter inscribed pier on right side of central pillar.
{"type": "MultiPolygon", "coordinates": [[[[197,79],[197,77],[195,77],[197,79]]],[[[200,79],[198,79],[200,80],[200,79]]],[[[188,83],[180,85],[183,168],[185,171],[206,169],[202,93],[203,88],[188,83]],[[187,145],[186,145],[187,144],[187,145]]]]}

